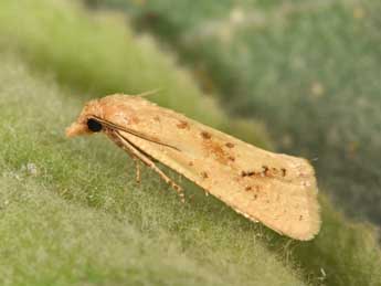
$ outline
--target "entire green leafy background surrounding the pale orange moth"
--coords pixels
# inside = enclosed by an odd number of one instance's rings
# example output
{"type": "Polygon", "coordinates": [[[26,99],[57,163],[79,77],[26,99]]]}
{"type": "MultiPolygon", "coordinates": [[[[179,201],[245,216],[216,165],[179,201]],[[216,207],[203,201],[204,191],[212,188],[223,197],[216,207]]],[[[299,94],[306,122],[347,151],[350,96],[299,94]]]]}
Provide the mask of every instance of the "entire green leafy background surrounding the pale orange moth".
{"type": "MultiPolygon", "coordinates": [[[[1,285],[381,285],[381,2],[1,0],[1,285]],[[317,169],[311,242],[182,204],[83,104],[151,97],[317,169]],[[345,213],[345,214],[343,214],[345,213]]],[[[170,172],[180,180],[179,176],[170,172]]]]}

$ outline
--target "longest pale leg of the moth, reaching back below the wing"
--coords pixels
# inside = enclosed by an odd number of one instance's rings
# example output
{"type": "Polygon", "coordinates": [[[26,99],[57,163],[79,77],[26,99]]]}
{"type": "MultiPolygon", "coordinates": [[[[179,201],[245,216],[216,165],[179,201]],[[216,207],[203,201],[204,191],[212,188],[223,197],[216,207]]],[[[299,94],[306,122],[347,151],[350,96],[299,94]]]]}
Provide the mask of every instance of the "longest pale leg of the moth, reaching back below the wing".
{"type": "Polygon", "coordinates": [[[146,157],[144,153],[141,153],[134,145],[131,145],[126,138],[124,138],[119,133],[115,133],[115,136],[123,142],[123,149],[125,149],[127,152],[131,153],[133,157],[141,160],[145,165],[147,165],[149,168],[151,168],[154,171],[156,171],[161,179],[165,180],[172,189],[180,195],[181,201],[184,202],[184,193],[180,186],[178,186],[176,182],[173,182],[165,172],[162,172],[155,162],[146,157]]]}

